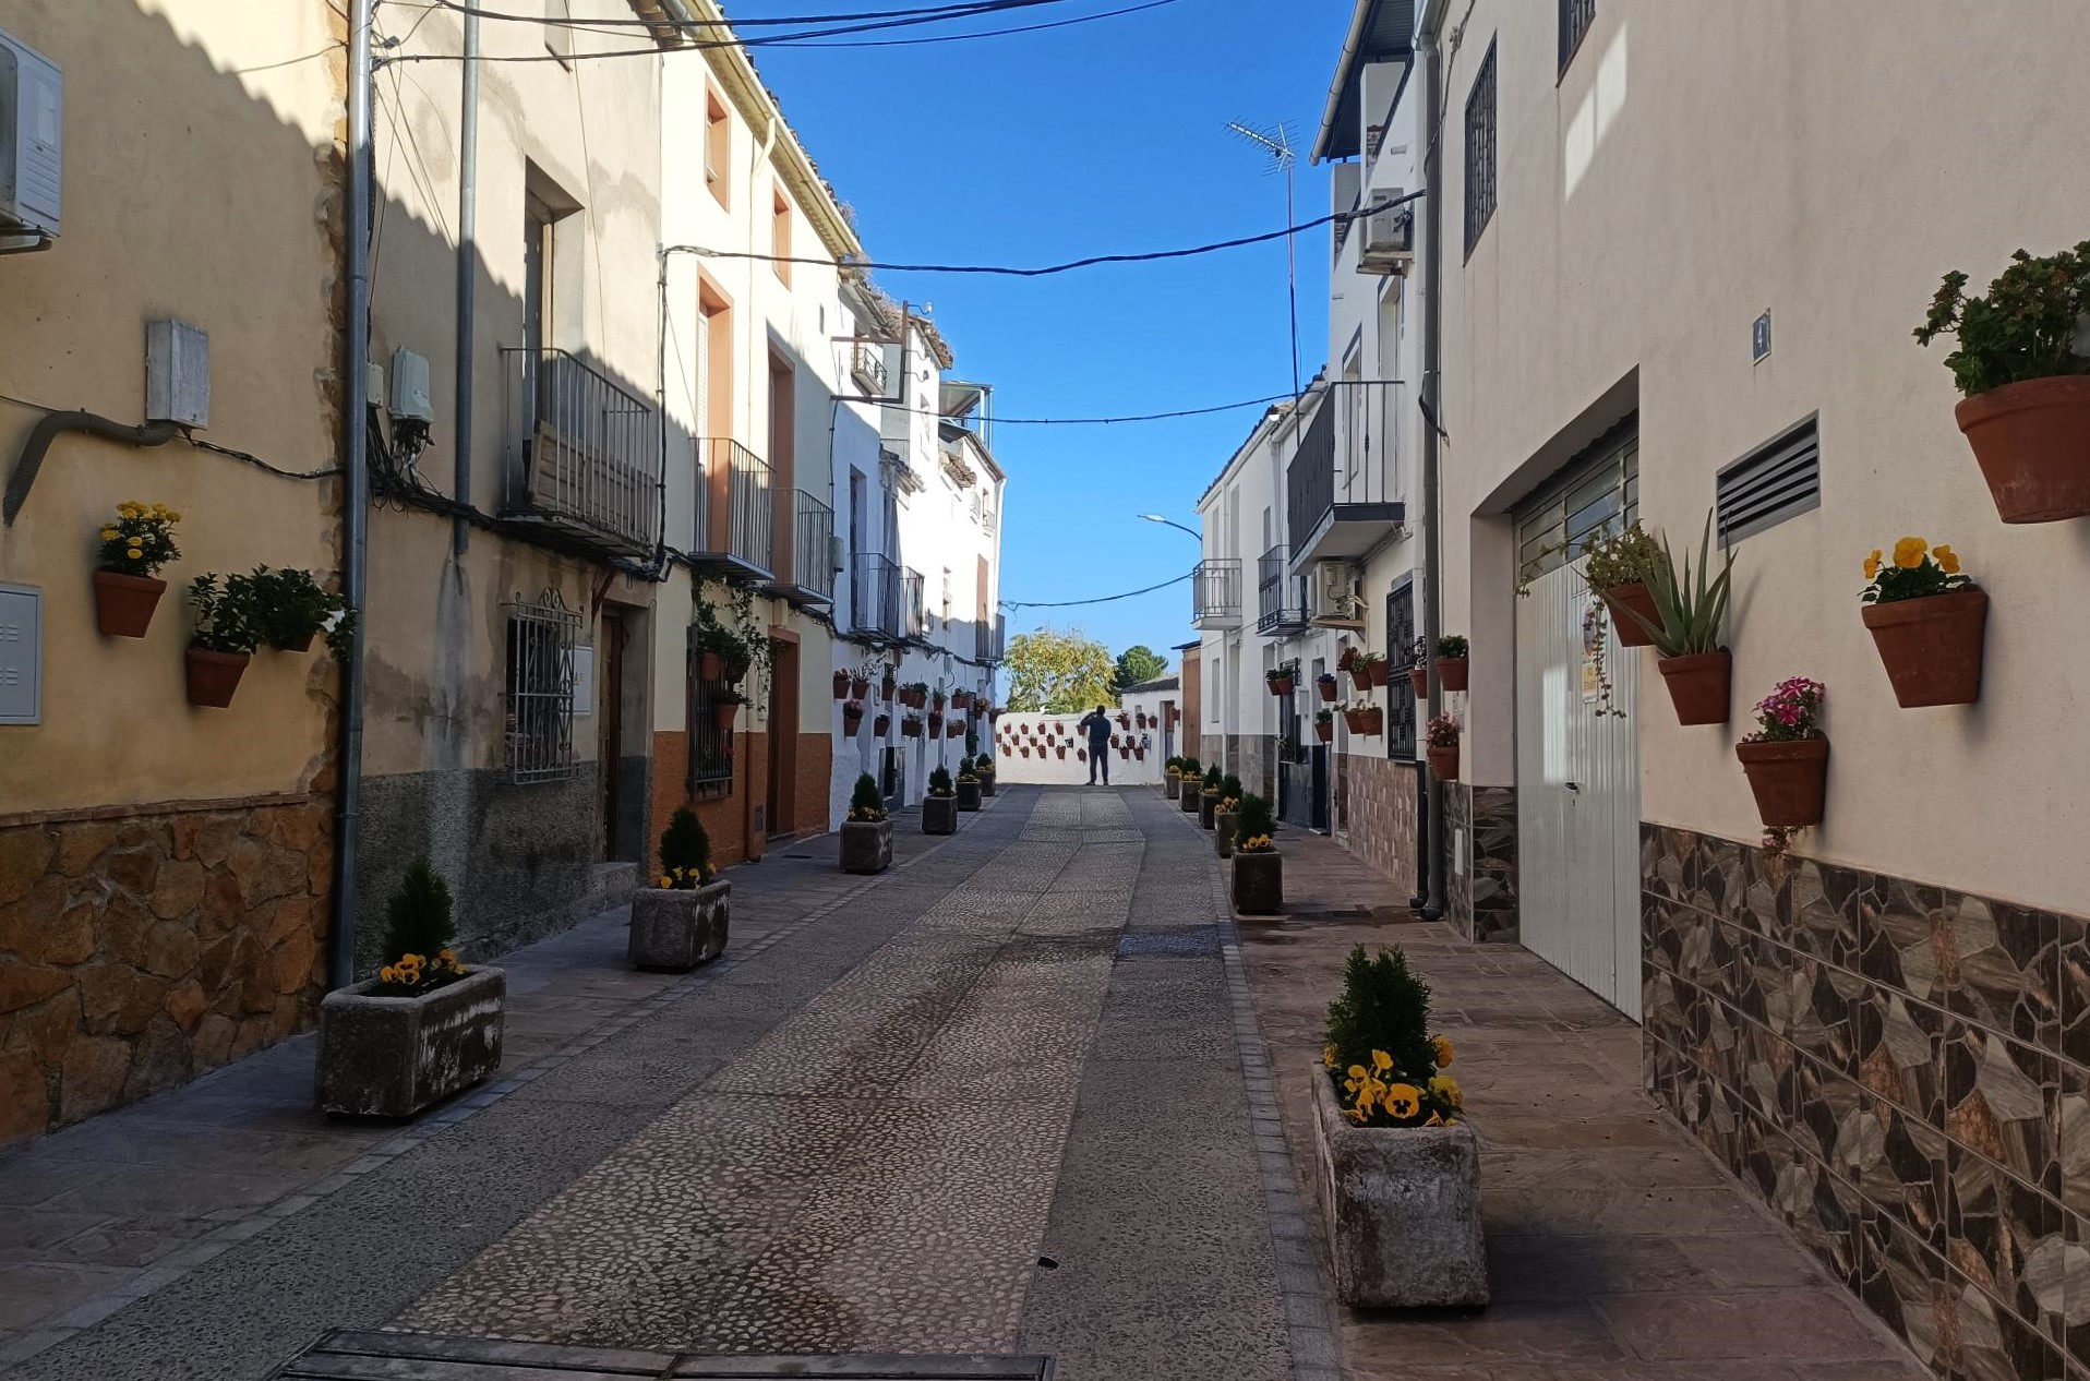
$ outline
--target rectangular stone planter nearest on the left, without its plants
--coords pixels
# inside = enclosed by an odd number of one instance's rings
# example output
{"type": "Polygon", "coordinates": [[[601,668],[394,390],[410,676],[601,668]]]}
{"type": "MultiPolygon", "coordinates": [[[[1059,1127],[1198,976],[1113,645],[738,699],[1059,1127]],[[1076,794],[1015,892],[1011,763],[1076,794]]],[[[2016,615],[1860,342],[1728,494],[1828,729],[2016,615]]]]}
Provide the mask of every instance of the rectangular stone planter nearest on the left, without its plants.
{"type": "Polygon", "coordinates": [[[366,978],[320,1003],[320,1111],[412,1118],[502,1068],[502,969],[420,997],[378,997],[376,986],[366,978]]]}

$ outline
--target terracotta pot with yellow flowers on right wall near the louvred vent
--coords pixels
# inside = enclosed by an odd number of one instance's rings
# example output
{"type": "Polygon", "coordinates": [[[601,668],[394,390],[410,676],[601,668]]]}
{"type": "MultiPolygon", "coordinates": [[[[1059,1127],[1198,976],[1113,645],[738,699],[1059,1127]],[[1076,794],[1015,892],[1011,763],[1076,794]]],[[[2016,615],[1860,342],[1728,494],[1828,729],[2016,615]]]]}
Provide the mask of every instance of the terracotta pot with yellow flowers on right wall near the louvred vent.
{"type": "Polygon", "coordinates": [[[1860,612],[1896,704],[1908,710],[1979,700],[1988,593],[1960,575],[1958,554],[1902,537],[1891,562],[1881,552],[1864,558],[1864,579],[1860,612]]]}

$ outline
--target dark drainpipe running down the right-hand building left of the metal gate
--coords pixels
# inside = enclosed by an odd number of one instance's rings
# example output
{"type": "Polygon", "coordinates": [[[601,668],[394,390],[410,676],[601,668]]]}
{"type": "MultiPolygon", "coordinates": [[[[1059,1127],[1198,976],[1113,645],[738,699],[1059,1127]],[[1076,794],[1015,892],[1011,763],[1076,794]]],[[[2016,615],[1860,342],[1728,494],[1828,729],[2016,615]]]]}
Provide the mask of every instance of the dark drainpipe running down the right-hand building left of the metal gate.
{"type": "MultiPolygon", "coordinates": [[[[1423,111],[1430,117],[1430,130],[1423,134],[1427,196],[1423,196],[1423,387],[1419,391],[1430,401],[1423,412],[1423,637],[1434,648],[1438,631],[1444,627],[1444,537],[1438,522],[1438,416],[1442,401],[1438,361],[1444,343],[1442,311],[1438,309],[1438,290],[1444,282],[1444,56],[1438,48],[1436,25],[1421,33],[1421,46],[1427,71],[1423,111]]],[[[1444,687],[1436,677],[1430,677],[1425,710],[1427,719],[1436,719],[1444,710],[1444,687]]],[[[1421,869],[1425,875],[1417,880],[1417,890],[1427,894],[1423,917],[1436,921],[1444,917],[1444,884],[1450,871],[1444,848],[1444,783],[1436,779],[1436,773],[1427,773],[1423,829],[1427,834],[1421,869]]]]}

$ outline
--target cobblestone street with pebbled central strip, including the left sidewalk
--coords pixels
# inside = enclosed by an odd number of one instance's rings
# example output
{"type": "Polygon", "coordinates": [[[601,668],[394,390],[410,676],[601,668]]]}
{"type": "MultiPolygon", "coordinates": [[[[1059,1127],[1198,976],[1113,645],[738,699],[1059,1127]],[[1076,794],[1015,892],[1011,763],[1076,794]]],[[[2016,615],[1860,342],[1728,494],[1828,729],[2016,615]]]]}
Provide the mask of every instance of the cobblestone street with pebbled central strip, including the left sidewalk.
{"type": "MultiPolygon", "coordinates": [[[[326,1327],[1331,1375],[1208,836],[1137,788],[1005,792],[943,842],[911,827],[869,884],[832,840],[736,869],[729,963],[688,980],[623,976],[614,919],[550,942],[583,980],[518,957],[541,1059],[405,1134],[276,1089],[305,1174],[278,1164],[274,1201],[203,1214],[209,1254],[56,1323],[23,1310],[8,1375],[261,1377],[326,1327]],[[566,1032],[562,1001],[583,1003],[566,1032]]],[[[274,1057],[295,1070],[295,1047],[274,1057]]],[[[205,1082],[140,1109],[209,1128],[211,1099],[238,1101],[205,1082]]],[[[182,1166],[125,1166],[117,1128],[0,1183],[71,1166],[71,1191],[140,1216],[180,1199],[182,1166]]]]}

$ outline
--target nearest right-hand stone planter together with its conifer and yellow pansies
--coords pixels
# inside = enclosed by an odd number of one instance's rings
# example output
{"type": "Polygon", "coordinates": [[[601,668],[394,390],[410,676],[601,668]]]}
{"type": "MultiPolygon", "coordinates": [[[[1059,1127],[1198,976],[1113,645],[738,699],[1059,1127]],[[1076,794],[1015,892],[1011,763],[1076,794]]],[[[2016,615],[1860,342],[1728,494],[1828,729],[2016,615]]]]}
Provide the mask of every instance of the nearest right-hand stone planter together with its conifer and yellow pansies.
{"type": "Polygon", "coordinates": [[[1315,1153],[1336,1295],[1352,1308],[1488,1302],[1480,1145],[1398,949],[1350,951],[1315,1070],[1315,1153]]]}

